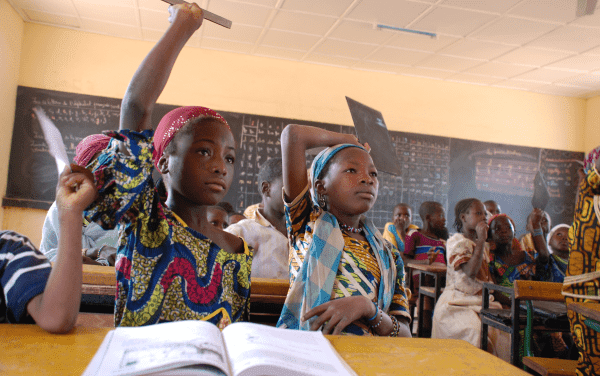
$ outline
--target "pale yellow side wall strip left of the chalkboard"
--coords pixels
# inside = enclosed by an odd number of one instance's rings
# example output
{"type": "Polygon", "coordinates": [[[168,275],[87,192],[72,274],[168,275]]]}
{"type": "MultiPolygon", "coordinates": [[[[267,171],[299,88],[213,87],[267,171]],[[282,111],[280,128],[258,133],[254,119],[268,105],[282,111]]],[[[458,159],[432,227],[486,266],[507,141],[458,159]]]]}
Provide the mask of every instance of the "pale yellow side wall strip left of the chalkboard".
{"type": "MultiPolygon", "coordinates": [[[[6,192],[10,139],[15,117],[15,101],[21,62],[24,22],[6,0],[0,0],[0,192],[6,192]]],[[[0,208],[0,229],[4,210],[0,208]]]]}

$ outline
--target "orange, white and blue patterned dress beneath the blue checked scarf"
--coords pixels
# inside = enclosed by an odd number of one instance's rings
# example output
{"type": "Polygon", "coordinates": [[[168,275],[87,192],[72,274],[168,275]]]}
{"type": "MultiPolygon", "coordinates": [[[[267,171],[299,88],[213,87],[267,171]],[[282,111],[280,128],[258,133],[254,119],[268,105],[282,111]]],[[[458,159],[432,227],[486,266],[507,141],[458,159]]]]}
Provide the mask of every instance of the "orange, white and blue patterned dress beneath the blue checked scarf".
{"type": "MultiPolygon", "coordinates": [[[[294,283],[304,261],[310,242],[313,240],[313,226],[323,213],[312,204],[308,187],[294,202],[285,203],[286,225],[292,249],[290,249],[290,286],[294,283]]],[[[331,299],[363,295],[377,302],[381,271],[372,247],[368,242],[359,241],[343,233],[344,249],[331,292],[331,299]]],[[[404,263],[397,249],[393,250],[396,263],[396,282],[389,315],[404,316],[410,319],[408,299],[404,289],[404,263]]],[[[348,325],[343,334],[372,335],[371,327],[355,322],[348,325]]]]}

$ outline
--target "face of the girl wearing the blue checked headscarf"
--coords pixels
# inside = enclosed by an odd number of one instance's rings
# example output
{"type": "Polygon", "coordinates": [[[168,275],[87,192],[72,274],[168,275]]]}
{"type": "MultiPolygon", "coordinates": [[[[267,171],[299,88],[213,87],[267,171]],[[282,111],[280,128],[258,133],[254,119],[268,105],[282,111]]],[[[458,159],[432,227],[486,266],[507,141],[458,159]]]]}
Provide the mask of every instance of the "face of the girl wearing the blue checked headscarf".
{"type": "Polygon", "coordinates": [[[375,205],[379,189],[377,168],[371,156],[351,147],[334,158],[327,176],[322,179],[329,211],[346,215],[366,213],[375,205]]]}

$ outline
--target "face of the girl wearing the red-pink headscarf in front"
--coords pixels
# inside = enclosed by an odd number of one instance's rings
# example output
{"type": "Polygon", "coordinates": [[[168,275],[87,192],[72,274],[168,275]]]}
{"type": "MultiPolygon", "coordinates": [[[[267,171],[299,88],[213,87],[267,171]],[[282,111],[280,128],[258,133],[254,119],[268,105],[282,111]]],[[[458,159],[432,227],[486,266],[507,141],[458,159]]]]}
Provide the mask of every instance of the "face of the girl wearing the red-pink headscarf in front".
{"type": "Polygon", "coordinates": [[[195,204],[215,205],[233,180],[235,141],[231,131],[216,120],[194,127],[193,132],[172,141],[177,145],[168,162],[171,190],[195,204]]]}

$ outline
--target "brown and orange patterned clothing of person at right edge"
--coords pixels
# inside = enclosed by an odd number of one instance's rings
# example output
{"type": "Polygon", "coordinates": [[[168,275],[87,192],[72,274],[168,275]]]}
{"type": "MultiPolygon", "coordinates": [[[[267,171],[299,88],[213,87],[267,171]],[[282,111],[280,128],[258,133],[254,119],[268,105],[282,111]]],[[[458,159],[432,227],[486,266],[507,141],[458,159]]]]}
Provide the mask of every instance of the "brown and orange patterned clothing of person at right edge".
{"type": "MultiPolygon", "coordinates": [[[[569,266],[563,284],[567,304],[599,303],[600,291],[600,221],[598,212],[600,176],[592,168],[579,183],[573,226],[569,230],[569,266]]],[[[568,311],[573,340],[579,350],[578,375],[600,374],[598,333],[584,324],[585,317],[568,311]]]]}

